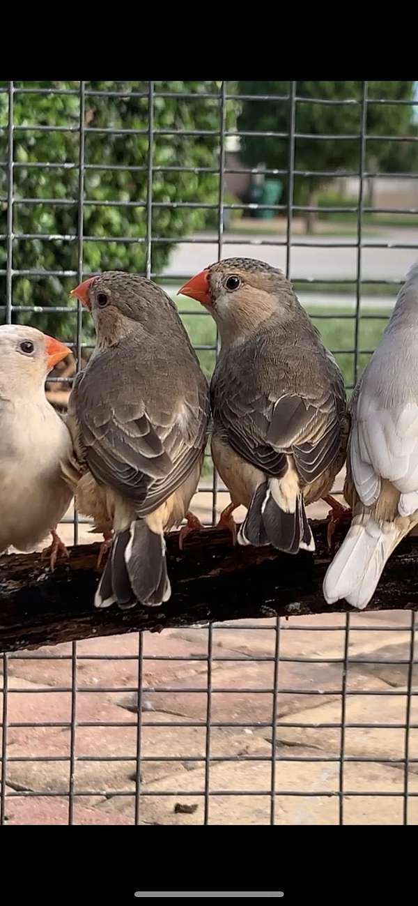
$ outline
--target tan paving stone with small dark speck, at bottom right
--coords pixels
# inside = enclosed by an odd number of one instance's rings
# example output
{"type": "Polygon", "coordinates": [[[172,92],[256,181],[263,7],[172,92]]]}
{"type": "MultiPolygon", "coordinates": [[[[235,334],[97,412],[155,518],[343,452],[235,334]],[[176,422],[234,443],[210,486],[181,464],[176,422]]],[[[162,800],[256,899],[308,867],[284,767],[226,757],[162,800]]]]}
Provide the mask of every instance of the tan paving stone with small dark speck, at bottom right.
{"type": "MultiPolygon", "coordinates": [[[[299,755],[318,757],[315,749],[301,747],[299,755]]],[[[324,753],[325,755],[325,753],[324,753]]],[[[365,795],[346,796],[344,803],[347,824],[402,824],[403,775],[391,766],[358,763],[347,766],[346,788],[365,795]],[[351,786],[351,784],[353,786],[351,786]],[[372,796],[372,793],[393,793],[393,796],[372,796]],[[367,793],[369,795],[367,795],[367,793]]],[[[278,762],[276,766],[276,824],[338,824],[338,763],[325,761],[307,763],[278,762]],[[298,790],[306,795],[290,795],[298,790]],[[288,795],[283,795],[284,792],[288,795]]],[[[412,776],[411,790],[418,791],[418,777],[412,776]]],[[[210,769],[210,789],[229,795],[211,795],[210,824],[270,824],[271,766],[259,762],[240,766],[223,763],[210,769]],[[245,795],[264,790],[265,795],[245,795]]],[[[141,801],[144,820],[157,824],[203,824],[204,801],[196,795],[204,790],[204,770],[189,776],[180,775],[145,785],[141,801]],[[186,794],[186,795],[185,795],[186,794]],[[182,814],[178,805],[195,811],[182,814]]],[[[415,797],[411,798],[410,823],[416,824],[418,813],[415,797]]],[[[130,805],[122,797],[112,797],[99,806],[100,811],[126,814],[130,805]]]]}

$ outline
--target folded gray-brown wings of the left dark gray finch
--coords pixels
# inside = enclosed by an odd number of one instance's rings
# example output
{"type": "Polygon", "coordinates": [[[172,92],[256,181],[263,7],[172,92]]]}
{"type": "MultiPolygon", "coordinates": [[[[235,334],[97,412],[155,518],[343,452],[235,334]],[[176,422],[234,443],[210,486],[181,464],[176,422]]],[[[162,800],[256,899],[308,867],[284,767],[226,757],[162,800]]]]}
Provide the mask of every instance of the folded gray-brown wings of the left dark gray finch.
{"type": "Polygon", "coordinates": [[[106,354],[96,355],[74,383],[71,412],[78,422],[83,458],[93,477],[128,497],[138,515],[156,509],[174,493],[202,454],[208,394],[200,377],[202,387],[181,426],[164,394],[159,405],[149,401],[151,415],[140,399],[140,387],[133,389],[126,381],[118,385],[106,354]]]}

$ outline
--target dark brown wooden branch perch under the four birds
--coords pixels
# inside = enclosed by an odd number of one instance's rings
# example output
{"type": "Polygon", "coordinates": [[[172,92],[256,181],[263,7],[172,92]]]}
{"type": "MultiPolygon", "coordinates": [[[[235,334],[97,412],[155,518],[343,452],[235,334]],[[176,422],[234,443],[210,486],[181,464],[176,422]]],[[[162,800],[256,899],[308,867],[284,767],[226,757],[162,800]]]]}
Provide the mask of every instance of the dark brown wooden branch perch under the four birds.
{"type": "MultiPolygon", "coordinates": [[[[168,535],[170,601],[128,611],[93,607],[99,545],[72,547],[70,559],[59,561],[54,573],[40,554],[4,555],[0,557],[0,651],[244,617],[348,612],[352,608],[346,602],[329,607],[324,601],[322,581],[331,560],[327,523],[311,525],[316,554],[296,556],[271,547],[233,547],[230,533],[214,528],[188,535],[180,553],[178,535],[168,535]]],[[[344,531],[337,531],[337,543],[344,531]]],[[[418,538],[409,536],[387,564],[368,610],[417,610],[417,576],[418,538]]]]}

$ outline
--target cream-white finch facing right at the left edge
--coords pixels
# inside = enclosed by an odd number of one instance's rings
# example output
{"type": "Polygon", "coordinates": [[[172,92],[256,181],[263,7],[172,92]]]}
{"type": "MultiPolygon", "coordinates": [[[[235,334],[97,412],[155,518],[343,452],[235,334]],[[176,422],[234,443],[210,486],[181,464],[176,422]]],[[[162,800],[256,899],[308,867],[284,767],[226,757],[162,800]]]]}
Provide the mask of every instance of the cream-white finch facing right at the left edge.
{"type": "Polygon", "coordinates": [[[26,551],[51,533],[53,569],[60,550],[56,533],[71,503],[61,460],[71,437],[45,397],[45,379],[69,354],[62,342],[33,327],[0,327],[0,551],[26,551]]]}

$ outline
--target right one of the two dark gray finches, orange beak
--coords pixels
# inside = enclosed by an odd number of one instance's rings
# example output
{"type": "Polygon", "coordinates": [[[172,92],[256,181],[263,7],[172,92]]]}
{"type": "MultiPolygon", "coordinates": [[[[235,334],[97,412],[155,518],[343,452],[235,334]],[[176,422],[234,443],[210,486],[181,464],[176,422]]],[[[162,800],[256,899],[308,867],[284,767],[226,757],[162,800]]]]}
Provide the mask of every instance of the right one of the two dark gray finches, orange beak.
{"type": "Polygon", "coordinates": [[[344,381],[290,282],[275,267],[226,258],[179,293],[204,304],[221,335],[211,384],[214,464],[233,510],[248,513],[242,545],[314,549],[305,505],[328,499],[347,444],[344,381]]]}

